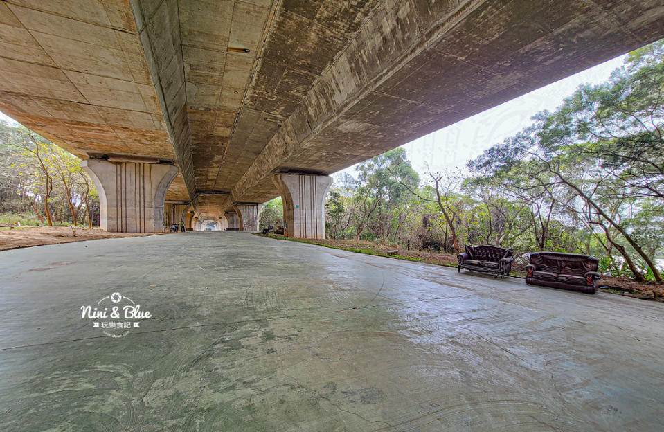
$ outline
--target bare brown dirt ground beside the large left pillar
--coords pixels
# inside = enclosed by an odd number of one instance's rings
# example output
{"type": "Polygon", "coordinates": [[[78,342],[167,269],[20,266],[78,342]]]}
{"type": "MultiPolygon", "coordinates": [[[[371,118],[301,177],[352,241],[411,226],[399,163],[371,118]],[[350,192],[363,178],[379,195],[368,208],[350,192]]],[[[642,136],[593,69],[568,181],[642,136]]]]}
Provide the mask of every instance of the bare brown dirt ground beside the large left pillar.
{"type": "Polygon", "coordinates": [[[82,242],[114,237],[136,237],[139,235],[159,235],[146,233],[107,233],[100,228],[69,226],[31,226],[29,228],[0,226],[0,251],[42,244],[82,242]],[[75,231],[75,236],[74,236],[75,231]]]}

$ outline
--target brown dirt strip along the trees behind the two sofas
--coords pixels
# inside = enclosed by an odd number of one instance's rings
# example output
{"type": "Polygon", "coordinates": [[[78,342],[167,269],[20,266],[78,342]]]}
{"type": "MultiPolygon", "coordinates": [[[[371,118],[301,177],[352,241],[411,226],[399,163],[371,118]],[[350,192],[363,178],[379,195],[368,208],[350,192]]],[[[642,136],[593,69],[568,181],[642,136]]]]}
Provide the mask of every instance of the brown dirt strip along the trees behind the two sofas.
{"type": "MultiPolygon", "coordinates": [[[[281,235],[271,236],[275,238],[284,238],[281,235]]],[[[289,239],[290,240],[290,239],[289,239]]],[[[456,267],[456,255],[449,253],[427,252],[427,251],[407,251],[405,249],[396,249],[392,246],[366,242],[364,240],[298,240],[302,242],[320,244],[322,246],[344,249],[359,253],[370,253],[372,255],[390,256],[402,260],[413,260],[428,262],[429,264],[438,264],[449,267],[456,267]],[[396,251],[396,253],[394,253],[396,251]]],[[[523,264],[512,264],[512,276],[524,278],[526,276],[526,267],[523,264]]],[[[656,300],[664,302],[664,286],[655,283],[638,283],[627,278],[613,278],[603,276],[600,280],[600,289],[602,291],[640,298],[643,300],[656,300]]]]}

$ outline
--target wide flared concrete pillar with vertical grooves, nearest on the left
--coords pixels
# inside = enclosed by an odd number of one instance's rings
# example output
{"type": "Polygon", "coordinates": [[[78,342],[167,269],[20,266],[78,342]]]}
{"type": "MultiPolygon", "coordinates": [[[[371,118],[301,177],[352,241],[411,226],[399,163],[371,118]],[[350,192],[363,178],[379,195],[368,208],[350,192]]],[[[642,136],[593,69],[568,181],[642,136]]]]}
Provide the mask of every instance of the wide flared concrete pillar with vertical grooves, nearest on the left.
{"type": "Polygon", "coordinates": [[[174,165],[142,162],[81,162],[99,192],[100,225],[112,233],[161,233],[163,201],[177,176],[174,165]]]}

